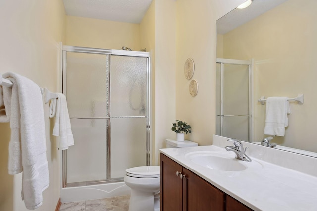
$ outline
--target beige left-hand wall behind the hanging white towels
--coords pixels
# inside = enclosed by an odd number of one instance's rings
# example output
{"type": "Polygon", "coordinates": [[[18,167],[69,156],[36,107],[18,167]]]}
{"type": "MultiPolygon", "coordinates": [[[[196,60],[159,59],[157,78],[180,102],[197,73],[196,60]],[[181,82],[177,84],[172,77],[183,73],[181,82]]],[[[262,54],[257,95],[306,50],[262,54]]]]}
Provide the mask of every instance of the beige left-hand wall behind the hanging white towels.
{"type": "MultiPolygon", "coordinates": [[[[0,3],[1,73],[12,71],[41,87],[57,91],[59,42],[65,40],[65,12],[62,0],[5,0],[0,3]]],[[[44,104],[44,102],[43,102],[44,104]]],[[[52,121],[44,104],[50,186],[44,191],[38,211],[55,209],[60,192],[60,152],[50,135],[52,121]]],[[[21,200],[22,174],[8,175],[8,123],[0,123],[0,210],[26,211],[21,200]]]]}

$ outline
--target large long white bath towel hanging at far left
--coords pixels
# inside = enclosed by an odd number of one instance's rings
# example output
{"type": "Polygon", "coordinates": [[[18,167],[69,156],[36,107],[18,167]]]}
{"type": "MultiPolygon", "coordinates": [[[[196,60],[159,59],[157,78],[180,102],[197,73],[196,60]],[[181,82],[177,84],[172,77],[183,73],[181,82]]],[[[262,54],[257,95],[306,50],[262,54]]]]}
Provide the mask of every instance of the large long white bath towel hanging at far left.
{"type": "Polygon", "coordinates": [[[36,209],[42,205],[42,192],[49,186],[40,87],[30,79],[11,72],[3,74],[3,78],[13,83],[11,91],[3,87],[3,97],[11,99],[8,170],[10,174],[23,170],[22,199],[27,209],[36,209]]]}

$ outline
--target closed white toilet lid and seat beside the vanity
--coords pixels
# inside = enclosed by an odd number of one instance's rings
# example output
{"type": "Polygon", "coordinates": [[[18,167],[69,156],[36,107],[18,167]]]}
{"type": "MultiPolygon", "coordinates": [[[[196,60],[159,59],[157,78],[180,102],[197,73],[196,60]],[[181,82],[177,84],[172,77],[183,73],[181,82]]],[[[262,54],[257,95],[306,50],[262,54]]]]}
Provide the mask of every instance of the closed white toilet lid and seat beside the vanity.
{"type": "Polygon", "coordinates": [[[160,177],[159,166],[133,167],[125,170],[127,176],[137,178],[157,178],[160,177]]]}

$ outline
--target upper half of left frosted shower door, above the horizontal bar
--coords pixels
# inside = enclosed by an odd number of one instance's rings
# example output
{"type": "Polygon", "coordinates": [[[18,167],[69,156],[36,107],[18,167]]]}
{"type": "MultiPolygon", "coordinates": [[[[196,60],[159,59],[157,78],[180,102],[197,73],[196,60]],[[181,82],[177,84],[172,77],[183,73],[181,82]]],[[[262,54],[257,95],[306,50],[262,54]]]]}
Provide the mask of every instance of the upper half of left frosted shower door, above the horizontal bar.
{"type": "Polygon", "coordinates": [[[107,117],[108,56],[67,52],[70,117],[107,117]]]}

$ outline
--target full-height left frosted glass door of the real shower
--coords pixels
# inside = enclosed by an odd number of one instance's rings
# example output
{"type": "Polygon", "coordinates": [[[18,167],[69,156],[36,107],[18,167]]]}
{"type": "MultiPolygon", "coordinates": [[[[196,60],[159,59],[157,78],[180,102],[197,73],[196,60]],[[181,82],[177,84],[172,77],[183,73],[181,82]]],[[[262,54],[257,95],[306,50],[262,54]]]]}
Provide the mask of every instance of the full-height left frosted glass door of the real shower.
{"type": "Polygon", "coordinates": [[[67,106],[75,145],[66,155],[67,183],[108,179],[107,55],[67,52],[67,106]]]}

